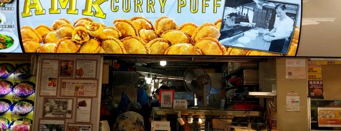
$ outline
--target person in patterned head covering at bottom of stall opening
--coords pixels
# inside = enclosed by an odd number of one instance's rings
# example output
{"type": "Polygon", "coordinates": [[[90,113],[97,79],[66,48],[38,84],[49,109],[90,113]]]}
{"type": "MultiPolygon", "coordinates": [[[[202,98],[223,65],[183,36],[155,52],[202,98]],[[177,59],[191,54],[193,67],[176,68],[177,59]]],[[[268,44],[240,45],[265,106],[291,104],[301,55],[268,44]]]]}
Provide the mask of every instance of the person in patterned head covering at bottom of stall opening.
{"type": "Polygon", "coordinates": [[[131,102],[127,111],[117,117],[112,131],[144,131],[144,120],[138,113],[141,108],[140,103],[131,102]]]}

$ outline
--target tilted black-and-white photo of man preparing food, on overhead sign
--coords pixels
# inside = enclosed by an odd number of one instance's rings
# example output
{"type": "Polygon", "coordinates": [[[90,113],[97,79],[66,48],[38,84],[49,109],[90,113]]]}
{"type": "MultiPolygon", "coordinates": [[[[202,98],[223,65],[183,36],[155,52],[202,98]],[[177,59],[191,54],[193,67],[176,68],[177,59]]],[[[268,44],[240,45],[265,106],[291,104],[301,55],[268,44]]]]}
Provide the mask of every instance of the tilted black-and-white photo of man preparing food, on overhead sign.
{"type": "Polygon", "coordinates": [[[226,0],[219,42],[229,47],[286,54],[301,13],[299,3],[283,1],[226,0]]]}

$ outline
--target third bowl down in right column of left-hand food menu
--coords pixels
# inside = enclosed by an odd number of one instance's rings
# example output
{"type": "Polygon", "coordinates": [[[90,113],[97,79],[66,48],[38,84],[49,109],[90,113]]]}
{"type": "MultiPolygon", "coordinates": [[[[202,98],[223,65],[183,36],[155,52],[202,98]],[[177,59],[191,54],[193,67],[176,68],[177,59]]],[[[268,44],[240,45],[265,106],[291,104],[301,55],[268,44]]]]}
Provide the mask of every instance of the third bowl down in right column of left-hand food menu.
{"type": "Polygon", "coordinates": [[[33,111],[34,102],[32,100],[23,99],[14,102],[10,109],[13,114],[18,114],[20,116],[25,116],[31,111],[33,111]]]}

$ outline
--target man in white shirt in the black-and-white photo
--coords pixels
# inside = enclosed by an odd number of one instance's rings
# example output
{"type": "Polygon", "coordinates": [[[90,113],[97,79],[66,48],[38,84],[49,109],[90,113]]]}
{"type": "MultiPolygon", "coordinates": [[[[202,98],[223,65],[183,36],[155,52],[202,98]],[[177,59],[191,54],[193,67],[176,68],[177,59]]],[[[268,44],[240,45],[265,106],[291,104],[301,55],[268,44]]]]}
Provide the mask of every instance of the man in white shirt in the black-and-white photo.
{"type": "Polygon", "coordinates": [[[284,4],[277,5],[275,10],[279,19],[276,19],[274,28],[271,31],[265,32],[263,35],[265,41],[271,41],[268,51],[281,52],[285,44],[285,39],[290,37],[293,30],[294,21],[285,14],[286,7],[284,4]]]}

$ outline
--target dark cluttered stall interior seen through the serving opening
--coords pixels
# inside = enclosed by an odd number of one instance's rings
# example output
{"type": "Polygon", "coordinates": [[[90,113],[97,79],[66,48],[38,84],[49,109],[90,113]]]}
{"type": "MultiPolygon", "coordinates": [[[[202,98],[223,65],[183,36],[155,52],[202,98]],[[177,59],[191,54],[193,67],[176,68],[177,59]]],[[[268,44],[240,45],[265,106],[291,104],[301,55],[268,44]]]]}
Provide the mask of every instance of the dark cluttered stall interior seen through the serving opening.
{"type": "MultiPolygon", "coordinates": [[[[152,123],[170,121],[171,131],[183,130],[183,121],[177,120],[179,117],[190,123],[192,131],[267,131],[271,128],[269,123],[276,113],[276,73],[269,74],[269,68],[275,70],[275,61],[256,57],[175,56],[167,58],[166,65],[160,66],[162,60],[165,59],[104,56],[104,62],[110,66],[109,81],[102,84],[101,107],[116,112],[121,99],[126,99],[122,92],[130,101],[138,101],[139,88],[146,90],[151,101],[153,91],[167,85],[175,91],[175,99],[187,101],[187,109],[158,107],[146,116],[152,123]],[[188,75],[193,68],[208,74],[206,83],[192,87],[191,82],[200,79],[188,75]],[[259,71],[260,68],[263,71],[259,71]],[[206,101],[198,97],[203,92],[206,101]]],[[[110,125],[112,117],[101,118],[110,125]]],[[[151,130],[154,131],[153,127],[151,130]]]]}

